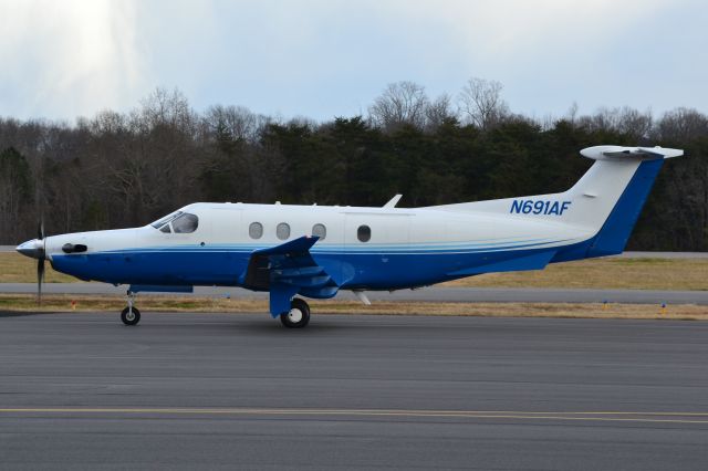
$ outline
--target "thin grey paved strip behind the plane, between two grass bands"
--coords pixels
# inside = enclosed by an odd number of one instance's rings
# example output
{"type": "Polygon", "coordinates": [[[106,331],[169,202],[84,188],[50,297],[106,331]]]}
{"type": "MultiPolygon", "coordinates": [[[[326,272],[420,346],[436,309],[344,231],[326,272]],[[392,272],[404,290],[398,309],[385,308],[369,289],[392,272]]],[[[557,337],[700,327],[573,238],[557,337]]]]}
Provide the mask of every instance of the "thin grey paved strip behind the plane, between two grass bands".
{"type": "MultiPolygon", "coordinates": [[[[45,283],[44,293],[66,294],[125,294],[126,286],[106,283],[45,283]]],[[[1,283],[0,293],[35,293],[35,283],[1,283]]],[[[170,294],[170,293],[166,293],[170,294]]],[[[253,293],[240,287],[196,286],[200,296],[259,297],[267,293],[253,293]]],[[[389,293],[368,291],[372,301],[424,301],[469,303],[634,303],[634,304],[708,304],[708,291],[658,291],[658,290],[561,290],[538,287],[440,287],[400,290],[389,293]]],[[[350,292],[339,299],[355,300],[350,292]]]]}

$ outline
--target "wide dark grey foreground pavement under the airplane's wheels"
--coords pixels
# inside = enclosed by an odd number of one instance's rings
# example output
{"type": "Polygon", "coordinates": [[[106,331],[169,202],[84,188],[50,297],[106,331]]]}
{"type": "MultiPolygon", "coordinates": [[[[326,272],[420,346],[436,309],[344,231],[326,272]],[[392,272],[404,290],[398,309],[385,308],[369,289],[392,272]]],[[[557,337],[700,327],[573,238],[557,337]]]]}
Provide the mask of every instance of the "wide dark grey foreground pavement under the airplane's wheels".
{"type": "Polygon", "coordinates": [[[708,324],[0,315],[10,469],[702,470],[708,324]]]}

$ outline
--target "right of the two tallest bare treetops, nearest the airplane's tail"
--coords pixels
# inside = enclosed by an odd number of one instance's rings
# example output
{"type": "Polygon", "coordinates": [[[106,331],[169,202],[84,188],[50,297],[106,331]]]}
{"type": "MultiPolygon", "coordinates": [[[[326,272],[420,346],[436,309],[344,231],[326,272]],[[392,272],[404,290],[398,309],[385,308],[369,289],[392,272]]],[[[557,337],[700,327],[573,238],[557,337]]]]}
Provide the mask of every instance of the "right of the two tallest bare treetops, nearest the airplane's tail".
{"type": "Polygon", "coordinates": [[[459,94],[460,114],[480,129],[490,129],[509,114],[501,98],[503,85],[497,81],[471,77],[459,94]]]}

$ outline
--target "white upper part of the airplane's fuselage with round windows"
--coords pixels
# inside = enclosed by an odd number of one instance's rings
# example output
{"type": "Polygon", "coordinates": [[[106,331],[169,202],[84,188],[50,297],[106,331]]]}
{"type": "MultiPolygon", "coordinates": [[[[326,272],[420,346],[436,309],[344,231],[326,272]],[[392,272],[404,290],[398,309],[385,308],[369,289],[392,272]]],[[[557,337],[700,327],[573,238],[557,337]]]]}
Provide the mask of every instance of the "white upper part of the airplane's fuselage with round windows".
{"type": "Polygon", "coordinates": [[[198,228],[194,232],[165,233],[145,226],[53,236],[46,238],[48,257],[51,259],[52,254],[62,253],[61,249],[65,243],[85,244],[87,253],[201,243],[207,248],[264,248],[302,236],[312,236],[315,224],[322,224],[326,236],[312,248],[312,253],[497,251],[565,245],[592,237],[590,229],[560,221],[539,220],[528,214],[431,208],[194,203],[180,211],[199,218],[198,228]],[[262,226],[262,236],[258,239],[249,234],[252,223],[262,226]],[[283,232],[279,237],[279,224],[288,224],[290,228],[287,238],[283,238],[283,232]],[[362,226],[371,229],[371,239],[365,242],[357,238],[362,226]]]}

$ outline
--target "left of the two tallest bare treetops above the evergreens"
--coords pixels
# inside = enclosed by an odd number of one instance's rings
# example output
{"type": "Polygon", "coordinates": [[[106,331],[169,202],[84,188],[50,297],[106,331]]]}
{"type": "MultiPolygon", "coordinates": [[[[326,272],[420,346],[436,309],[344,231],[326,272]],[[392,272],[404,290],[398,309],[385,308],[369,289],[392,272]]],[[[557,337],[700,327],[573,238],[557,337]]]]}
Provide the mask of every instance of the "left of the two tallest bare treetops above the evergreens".
{"type": "Polygon", "coordinates": [[[423,129],[428,97],[425,88],[414,82],[388,84],[384,93],[368,108],[374,125],[388,132],[404,124],[423,129]]]}

